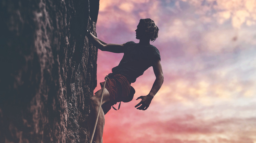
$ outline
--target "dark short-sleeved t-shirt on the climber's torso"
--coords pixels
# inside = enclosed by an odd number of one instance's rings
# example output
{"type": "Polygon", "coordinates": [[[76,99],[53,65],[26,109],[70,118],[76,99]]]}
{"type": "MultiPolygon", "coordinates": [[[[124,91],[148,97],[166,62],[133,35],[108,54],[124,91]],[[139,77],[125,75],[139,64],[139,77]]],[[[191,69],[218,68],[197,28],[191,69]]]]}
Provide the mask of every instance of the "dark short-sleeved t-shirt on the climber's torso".
{"type": "Polygon", "coordinates": [[[161,59],[159,50],[153,46],[141,46],[130,41],[124,44],[124,55],[117,67],[112,69],[114,74],[124,75],[130,83],[152,66],[154,60],[161,59]]]}

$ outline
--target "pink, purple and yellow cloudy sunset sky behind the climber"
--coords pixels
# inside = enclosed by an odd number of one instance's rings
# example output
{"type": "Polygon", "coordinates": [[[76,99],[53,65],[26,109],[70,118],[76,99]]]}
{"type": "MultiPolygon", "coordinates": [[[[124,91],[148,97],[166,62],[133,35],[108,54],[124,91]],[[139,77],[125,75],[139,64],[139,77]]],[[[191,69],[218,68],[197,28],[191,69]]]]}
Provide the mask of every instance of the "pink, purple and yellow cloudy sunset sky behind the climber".
{"type": "MultiPolygon", "coordinates": [[[[132,86],[133,101],[105,115],[103,143],[256,143],[255,0],[100,0],[96,33],[135,39],[141,18],[159,27],[164,83],[145,111],[134,106],[155,80],[132,86]]],[[[123,54],[98,51],[97,87],[123,54]]],[[[116,105],[118,106],[118,105],[116,105]]]]}

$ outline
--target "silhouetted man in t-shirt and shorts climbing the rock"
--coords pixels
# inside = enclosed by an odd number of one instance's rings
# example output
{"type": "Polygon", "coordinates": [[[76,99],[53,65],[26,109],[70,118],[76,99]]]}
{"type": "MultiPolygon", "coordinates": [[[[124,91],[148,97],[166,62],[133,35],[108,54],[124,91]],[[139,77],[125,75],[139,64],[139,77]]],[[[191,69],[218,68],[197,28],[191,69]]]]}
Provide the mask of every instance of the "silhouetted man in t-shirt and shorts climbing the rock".
{"type": "Polygon", "coordinates": [[[158,49],[150,45],[150,41],[155,41],[158,37],[158,27],[151,19],[140,19],[137,26],[136,39],[139,43],[133,41],[124,44],[107,44],[99,40],[92,33],[87,32],[89,40],[101,51],[108,51],[113,53],[124,53],[122,60],[117,67],[112,69],[112,73],[106,82],[103,89],[104,82],[101,84],[101,89],[95,93],[95,96],[90,98],[90,121],[89,128],[93,131],[97,111],[100,104],[101,93],[103,90],[102,106],[100,107],[99,118],[96,126],[93,141],[96,143],[102,142],[103,127],[105,123],[104,114],[106,114],[111,106],[117,102],[129,102],[135,93],[131,87],[131,83],[136,81],[136,78],[143,74],[149,67],[153,67],[156,80],[146,96],[140,96],[141,101],[135,106],[139,110],[146,110],[153,97],[156,95],[163,83],[163,73],[160,63],[160,53],[158,49]]]}

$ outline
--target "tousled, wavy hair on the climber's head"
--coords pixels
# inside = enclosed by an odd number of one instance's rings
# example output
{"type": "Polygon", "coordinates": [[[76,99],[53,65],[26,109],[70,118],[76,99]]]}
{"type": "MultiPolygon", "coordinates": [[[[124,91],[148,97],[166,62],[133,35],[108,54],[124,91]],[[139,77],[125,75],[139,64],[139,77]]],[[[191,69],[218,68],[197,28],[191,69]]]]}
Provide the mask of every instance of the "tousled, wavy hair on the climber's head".
{"type": "Polygon", "coordinates": [[[145,32],[148,32],[150,36],[150,41],[154,42],[158,38],[158,31],[159,31],[159,28],[157,27],[155,22],[152,19],[147,18],[147,19],[140,19],[139,23],[144,25],[145,32]]]}

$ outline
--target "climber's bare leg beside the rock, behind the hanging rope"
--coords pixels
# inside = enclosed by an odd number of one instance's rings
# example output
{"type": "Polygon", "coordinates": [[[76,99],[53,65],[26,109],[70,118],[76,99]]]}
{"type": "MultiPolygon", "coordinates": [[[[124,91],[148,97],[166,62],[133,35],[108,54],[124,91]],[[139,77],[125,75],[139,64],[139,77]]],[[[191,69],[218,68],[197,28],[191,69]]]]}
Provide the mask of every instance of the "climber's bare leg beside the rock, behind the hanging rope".
{"type": "MultiPolygon", "coordinates": [[[[89,102],[90,103],[89,129],[90,129],[91,137],[93,134],[94,125],[95,125],[96,118],[97,118],[101,94],[102,94],[102,88],[99,91],[97,91],[93,97],[90,98],[90,102],[89,102]]],[[[110,101],[109,92],[106,88],[104,88],[102,104],[109,102],[109,101],[110,101]]],[[[96,130],[95,130],[95,134],[93,137],[93,141],[95,141],[96,143],[102,142],[104,124],[105,124],[104,112],[100,106],[99,118],[98,118],[96,130]]]]}

